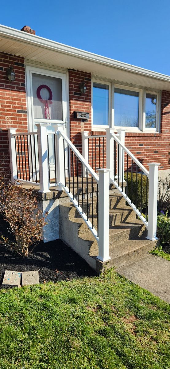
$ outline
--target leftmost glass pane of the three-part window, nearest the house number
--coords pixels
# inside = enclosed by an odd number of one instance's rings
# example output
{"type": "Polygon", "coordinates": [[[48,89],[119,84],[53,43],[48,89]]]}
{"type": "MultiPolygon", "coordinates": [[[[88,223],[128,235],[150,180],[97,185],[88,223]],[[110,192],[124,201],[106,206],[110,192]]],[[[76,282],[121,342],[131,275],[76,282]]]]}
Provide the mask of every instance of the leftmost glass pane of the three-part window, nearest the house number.
{"type": "Polygon", "coordinates": [[[109,85],[93,82],[93,125],[109,125],[109,85]]]}

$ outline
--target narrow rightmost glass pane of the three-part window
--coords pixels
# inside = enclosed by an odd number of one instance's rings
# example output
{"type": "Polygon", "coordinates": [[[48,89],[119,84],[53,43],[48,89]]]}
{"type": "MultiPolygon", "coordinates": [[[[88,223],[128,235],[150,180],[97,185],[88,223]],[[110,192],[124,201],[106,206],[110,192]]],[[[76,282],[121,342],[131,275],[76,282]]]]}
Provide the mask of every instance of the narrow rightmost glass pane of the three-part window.
{"type": "Polygon", "coordinates": [[[146,93],[146,128],[156,128],[156,95],[146,93]]]}

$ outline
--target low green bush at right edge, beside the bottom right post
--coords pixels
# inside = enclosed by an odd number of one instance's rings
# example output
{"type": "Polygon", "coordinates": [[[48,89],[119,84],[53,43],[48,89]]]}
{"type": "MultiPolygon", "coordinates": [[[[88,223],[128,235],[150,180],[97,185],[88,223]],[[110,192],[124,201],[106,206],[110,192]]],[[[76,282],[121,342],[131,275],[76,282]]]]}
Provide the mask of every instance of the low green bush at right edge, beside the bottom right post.
{"type": "Polygon", "coordinates": [[[157,237],[161,244],[170,244],[170,218],[166,214],[157,215],[157,237]]]}

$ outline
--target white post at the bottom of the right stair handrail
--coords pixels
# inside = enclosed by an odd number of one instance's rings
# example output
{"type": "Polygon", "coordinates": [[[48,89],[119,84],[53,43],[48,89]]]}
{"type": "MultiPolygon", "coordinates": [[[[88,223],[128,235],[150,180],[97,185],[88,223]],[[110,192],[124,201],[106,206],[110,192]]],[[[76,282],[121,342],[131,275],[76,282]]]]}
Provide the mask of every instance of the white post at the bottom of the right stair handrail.
{"type": "Polygon", "coordinates": [[[149,194],[148,194],[148,236],[154,241],[157,226],[157,183],[159,163],[149,163],[149,194]]]}

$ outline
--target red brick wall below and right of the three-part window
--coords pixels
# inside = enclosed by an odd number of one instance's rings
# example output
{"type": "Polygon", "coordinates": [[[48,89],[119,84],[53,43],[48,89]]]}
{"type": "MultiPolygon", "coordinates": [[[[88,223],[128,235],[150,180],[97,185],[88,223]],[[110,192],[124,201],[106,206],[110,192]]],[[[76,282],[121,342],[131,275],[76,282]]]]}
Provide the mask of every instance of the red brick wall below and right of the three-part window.
{"type": "Polygon", "coordinates": [[[126,133],[125,145],[148,169],[148,163],[160,163],[159,169],[170,169],[170,92],[162,91],[160,133],[126,133]]]}

